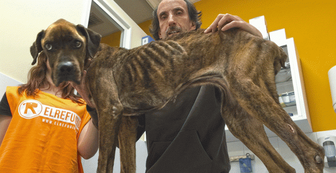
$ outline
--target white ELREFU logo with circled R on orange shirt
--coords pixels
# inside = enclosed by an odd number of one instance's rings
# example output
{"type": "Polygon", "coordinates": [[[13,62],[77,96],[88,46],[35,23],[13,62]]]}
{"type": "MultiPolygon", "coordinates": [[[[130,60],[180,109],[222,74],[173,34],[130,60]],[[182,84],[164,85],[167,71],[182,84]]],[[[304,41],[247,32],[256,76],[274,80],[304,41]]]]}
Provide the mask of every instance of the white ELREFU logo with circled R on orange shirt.
{"type": "MultiPolygon", "coordinates": [[[[24,119],[32,119],[38,116],[49,118],[56,120],[48,121],[49,123],[52,122],[54,125],[63,127],[72,124],[71,128],[73,127],[76,130],[79,129],[81,123],[81,119],[77,113],[67,109],[44,105],[37,100],[24,100],[21,102],[19,105],[19,115],[24,119]],[[59,121],[63,123],[59,123],[59,121]]],[[[45,121],[45,119],[43,120],[45,121]]]]}

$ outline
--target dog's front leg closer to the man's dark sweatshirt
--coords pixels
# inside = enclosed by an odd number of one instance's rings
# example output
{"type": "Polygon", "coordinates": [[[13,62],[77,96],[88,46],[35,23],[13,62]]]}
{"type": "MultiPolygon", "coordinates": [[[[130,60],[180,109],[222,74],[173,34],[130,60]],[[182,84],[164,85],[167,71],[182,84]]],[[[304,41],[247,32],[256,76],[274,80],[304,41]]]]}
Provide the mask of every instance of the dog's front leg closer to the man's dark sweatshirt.
{"type": "Polygon", "coordinates": [[[119,149],[121,172],[136,172],[135,167],[135,142],[137,117],[122,116],[119,128],[119,149]]]}

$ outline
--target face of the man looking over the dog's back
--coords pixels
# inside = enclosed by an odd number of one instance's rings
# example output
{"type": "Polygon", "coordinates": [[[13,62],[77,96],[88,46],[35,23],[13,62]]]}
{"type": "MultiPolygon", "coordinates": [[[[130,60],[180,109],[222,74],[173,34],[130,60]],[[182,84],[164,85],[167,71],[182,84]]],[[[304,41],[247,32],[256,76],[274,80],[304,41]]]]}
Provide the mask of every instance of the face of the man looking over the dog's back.
{"type": "Polygon", "coordinates": [[[160,39],[196,28],[189,19],[187,4],[183,0],[163,0],[157,8],[157,17],[160,24],[160,39]]]}

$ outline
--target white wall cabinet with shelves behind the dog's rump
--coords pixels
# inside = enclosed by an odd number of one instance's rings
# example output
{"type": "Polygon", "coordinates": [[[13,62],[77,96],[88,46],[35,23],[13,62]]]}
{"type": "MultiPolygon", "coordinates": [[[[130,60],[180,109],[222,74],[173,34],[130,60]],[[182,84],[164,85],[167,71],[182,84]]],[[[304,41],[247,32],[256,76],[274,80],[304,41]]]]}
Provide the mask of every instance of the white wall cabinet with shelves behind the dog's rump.
{"type": "MultiPolygon", "coordinates": [[[[288,52],[288,60],[286,68],[279,71],[275,76],[276,89],[283,101],[284,109],[289,113],[292,120],[299,126],[304,133],[312,132],[312,124],[310,120],[307,99],[304,89],[301,62],[297,53],[294,39],[287,39],[278,45],[288,52]],[[294,92],[294,95],[292,95],[294,92]],[[295,100],[295,101],[294,101],[295,100]]],[[[268,137],[276,136],[275,133],[265,127],[268,137]]],[[[238,141],[236,137],[225,127],[227,142],[238,141]]]]}

